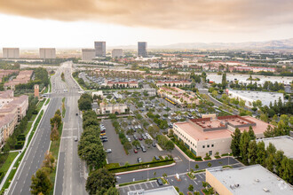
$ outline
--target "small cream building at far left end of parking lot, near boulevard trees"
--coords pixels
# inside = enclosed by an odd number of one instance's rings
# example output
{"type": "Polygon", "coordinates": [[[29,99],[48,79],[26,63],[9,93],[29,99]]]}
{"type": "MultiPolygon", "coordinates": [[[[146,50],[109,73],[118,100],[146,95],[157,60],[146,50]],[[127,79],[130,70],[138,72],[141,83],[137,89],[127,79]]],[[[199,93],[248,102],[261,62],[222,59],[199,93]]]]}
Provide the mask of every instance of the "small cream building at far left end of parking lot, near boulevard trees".
{"type": "Polygon", "coordinates": [[[123,104],[111,104],[111,103],[100,103],[97,113],[108,114],[108,113],[127,113],[128,107],[123,104]]]}

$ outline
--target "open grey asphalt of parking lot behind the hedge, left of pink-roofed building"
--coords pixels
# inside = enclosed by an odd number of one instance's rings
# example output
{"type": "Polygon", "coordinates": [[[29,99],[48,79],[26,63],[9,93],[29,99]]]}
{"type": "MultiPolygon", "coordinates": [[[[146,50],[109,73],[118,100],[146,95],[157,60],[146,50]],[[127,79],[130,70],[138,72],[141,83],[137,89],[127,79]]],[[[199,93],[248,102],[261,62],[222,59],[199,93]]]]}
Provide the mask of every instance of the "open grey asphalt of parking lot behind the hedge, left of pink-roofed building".
{"type": "MultiPolygon", "coordinates": [[[[112,125],[111,120],[104,120],[101,122],[105,125],[107,142],[103,143],[105,150],[111,149],[112,152],[107,153],[107,162],[108,163],[119,163],[120,165],[124,165],[125,162],[130,164],[138,163],[138,158],[140,157],[143,162],[152,161],[154,156],[165,156],[168,155],[168,152],[159,151],[157,147],[153,147],[152,145],[147,146],[144,140],[139,141],[140,144],[144,144],[146,146],[147,152],[142,152],[141,149],[138,150],[138,153],[133,152],[133,149],[129,151],[127,155],[123,149],[123,145],[119,140],[118,134],[116,134],[115,129],[112,125]]],[[[139,136],[139,133],[136,132],[135,135],[139,136]]],[[[131,138],[131,142],[134,140],[133,136],[129,136],[131,138]]],[[[133,147],[134,148],[134,147],[133,147]]]]}

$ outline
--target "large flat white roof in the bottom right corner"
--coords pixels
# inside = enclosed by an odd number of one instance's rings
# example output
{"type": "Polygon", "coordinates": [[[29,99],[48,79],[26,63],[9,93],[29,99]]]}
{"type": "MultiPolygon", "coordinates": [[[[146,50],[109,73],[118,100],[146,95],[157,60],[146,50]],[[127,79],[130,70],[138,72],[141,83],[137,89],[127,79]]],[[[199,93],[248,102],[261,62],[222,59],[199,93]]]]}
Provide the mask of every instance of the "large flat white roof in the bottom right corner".
{"type": "Polygon", "coordinates": [[[293,188],[289,183],[284,182],[261,165],[231,169],[208,168],[208,171],[235,195],[293,194],[293,188]]]}

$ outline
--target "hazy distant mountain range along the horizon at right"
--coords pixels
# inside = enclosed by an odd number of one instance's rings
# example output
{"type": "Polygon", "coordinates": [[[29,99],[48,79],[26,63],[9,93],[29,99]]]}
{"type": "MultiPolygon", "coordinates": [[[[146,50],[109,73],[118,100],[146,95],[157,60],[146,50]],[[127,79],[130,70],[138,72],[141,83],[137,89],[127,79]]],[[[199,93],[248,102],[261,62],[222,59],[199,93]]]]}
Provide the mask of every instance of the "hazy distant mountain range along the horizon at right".
{"type": "MultiPolygon", "coordinates": [[[[110,48],[137,49],[136,45],[124,45],[110,48]]],[[[162,46],[149,45],[149,49],[293,49],[293,38],[273,40],[267,42],[243,42],[243,43],[175,43],[162,46]]]]}

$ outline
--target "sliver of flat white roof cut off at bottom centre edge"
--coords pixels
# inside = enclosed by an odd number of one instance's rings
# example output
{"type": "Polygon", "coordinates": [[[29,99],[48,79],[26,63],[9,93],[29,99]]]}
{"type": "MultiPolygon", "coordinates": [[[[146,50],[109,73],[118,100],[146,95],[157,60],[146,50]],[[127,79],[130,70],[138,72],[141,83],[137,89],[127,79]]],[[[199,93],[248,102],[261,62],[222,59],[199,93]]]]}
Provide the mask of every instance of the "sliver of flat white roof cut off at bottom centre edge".
{"type": "Polygon", "coordinates": [[[128,195],[178,195],[178,191],[175,190],[174,186],[168,186],[163,188],[155,188],[153,190],[145,191],[144,189],[139,191],[128,191],[128,195]]]}

